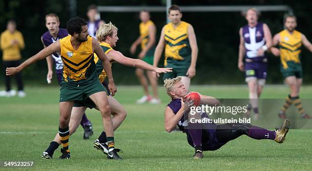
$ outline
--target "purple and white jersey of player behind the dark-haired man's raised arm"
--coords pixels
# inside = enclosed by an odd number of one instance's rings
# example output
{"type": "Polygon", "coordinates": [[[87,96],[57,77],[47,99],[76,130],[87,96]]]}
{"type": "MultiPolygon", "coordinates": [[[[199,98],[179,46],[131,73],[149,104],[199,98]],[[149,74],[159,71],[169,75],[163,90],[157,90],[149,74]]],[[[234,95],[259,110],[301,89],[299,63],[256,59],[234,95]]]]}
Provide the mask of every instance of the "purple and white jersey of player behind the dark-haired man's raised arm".
{"type": "MultiPolygon", "coordinates": [[[[61,39],[61,38],[63,38],[63,37],[66,37],[66,36],[68,36],[67,30],[66,30],[66,29],[60,28],[59,33],[58,33],[58,36],[57,36],[56,39],[54,39],[54,38],[50,35],[49,31],[47,31],[47,32],[43,33],[43,35],[42,35],[42,41],[43,41],[43,44],[44,44],[45,46],[49,46],[50,44],[56,42],[57,40],[59,40],[59,39],[61,39]]],[[[55,68],[56,68],[57,70],[63,69],[63,61],[62,61],[61,55],[60,55],[59,53],[56,52],[56,53],[53,53],[53,54],[52,54],[52,57],[53,57],[53,59],[54,59],[54,61],[55,61],[55,64],[56,64],[56,67],[55,67],[55,68]]]]}

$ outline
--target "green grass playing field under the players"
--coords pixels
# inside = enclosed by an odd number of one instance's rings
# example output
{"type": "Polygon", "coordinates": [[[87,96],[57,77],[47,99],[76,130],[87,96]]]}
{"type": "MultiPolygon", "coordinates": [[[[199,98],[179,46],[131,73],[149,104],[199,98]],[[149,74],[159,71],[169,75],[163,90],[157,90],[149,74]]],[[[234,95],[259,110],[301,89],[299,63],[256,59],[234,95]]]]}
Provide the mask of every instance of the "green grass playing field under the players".
{"type": "MultiPolygon", "coordinates": [[[[120,153],[124,160],[108,160],[93,148],[94,139],[102,131],[96,110],[87,110],[94,126],[91,139],[83,139],[81,127],[70,137],[70,160],[57,159],[60,148],[55,159],[41,159],[58,130],[59,89],[27,87],[27,97],[23,99],[0,98],[0,161],[33,161],[34,166],[0,166],[0,170],[312,170],[312,130],[290,130],[283,144],[241,136],[220,150],[205,152],[202,160],[194,160],[186,135],[164,130],[163,115],[169,98],[162,87],[160,105],[135,104],[142,95],[141,87],[117,88],[116,99],[128,112],[115,132],[116,146],[124,151],[120,153]]],[[[246,86],[192,86],[191,90],[217,98],[248,97],[246,86]]],[[[283,99],[287,94],[288,87],[267,86],[262,97],[283,99]]],[[[300,95],[311,98],[312,87],[302,87],[300,95]]]]}

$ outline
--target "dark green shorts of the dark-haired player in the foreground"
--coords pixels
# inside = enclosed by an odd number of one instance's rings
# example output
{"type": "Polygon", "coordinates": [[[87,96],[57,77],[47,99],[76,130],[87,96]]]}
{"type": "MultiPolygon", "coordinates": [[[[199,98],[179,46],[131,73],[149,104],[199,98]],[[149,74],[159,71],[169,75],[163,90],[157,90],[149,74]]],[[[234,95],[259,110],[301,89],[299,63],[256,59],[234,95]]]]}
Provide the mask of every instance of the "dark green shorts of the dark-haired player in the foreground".
{"type": "Polygon", "coordinates": [[[82,84],[62,82],[60,86],[60,102],[84,101],[91,94],[106,91],[97,78],[82,84]]]}

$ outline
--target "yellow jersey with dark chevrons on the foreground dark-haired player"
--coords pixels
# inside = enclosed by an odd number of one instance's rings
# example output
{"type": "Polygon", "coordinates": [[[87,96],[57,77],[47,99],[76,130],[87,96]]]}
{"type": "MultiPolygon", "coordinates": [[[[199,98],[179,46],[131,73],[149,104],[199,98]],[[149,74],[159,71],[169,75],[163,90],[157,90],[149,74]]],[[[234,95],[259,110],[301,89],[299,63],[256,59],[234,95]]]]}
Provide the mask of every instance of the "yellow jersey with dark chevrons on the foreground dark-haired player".
{"type": "Polygon", "coordinates": [[[61,58],[64,64],[62,81],[82,83],[96,78],[92,49],[92,37],[82,42],[75,50],[70,42],[71,35],[60,39],[61,58]]]}

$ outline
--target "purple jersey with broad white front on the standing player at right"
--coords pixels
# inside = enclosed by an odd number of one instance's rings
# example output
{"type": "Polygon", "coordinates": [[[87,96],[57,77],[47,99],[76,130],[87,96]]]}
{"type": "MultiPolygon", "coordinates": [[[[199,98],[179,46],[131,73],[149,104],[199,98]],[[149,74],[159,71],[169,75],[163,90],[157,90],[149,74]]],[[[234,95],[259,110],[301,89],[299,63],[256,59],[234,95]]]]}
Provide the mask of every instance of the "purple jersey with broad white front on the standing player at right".
{"type": "Polygon", "coordinates": [[[262,22],[258,22],[254,28],[250,28],[248,25],[244,26],[243,36],[246,49],[245,58],[253,61],[261,61],[266,58],[265,56],[257,56],[258,49],[266,44],[262,22]]]}

